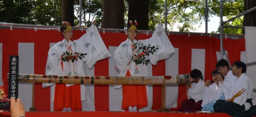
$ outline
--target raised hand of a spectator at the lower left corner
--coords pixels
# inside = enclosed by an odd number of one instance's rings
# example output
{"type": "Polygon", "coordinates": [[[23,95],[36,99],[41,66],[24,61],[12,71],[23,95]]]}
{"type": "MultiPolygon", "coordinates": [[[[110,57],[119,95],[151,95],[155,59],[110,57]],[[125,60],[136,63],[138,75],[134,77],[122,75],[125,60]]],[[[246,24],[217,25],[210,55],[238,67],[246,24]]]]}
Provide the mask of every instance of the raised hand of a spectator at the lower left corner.
{"type": "Polygon", "coordinates": [[[23,103],[21,102],[20,98],[15,101],[14,97],[11,97],[11,117],[20,116],[25,116],[25,109],[23,107],[23,103]]]}

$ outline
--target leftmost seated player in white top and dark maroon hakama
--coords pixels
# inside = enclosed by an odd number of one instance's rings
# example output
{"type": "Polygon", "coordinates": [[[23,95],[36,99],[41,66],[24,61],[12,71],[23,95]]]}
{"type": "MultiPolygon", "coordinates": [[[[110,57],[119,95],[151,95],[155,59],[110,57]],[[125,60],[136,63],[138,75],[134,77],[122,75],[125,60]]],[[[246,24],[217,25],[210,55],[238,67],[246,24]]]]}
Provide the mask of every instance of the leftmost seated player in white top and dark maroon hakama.
{"type": "Polygon", "coordinates": [[[190,77],[193,80],[192,84],[187,84],[187,96],[190,99],[182,101],[180,111],[196,112],[202,110],[202,100],[204,98],[204,79],[202,72],[198,69],[193,69],[190,72],[190,77]]]}

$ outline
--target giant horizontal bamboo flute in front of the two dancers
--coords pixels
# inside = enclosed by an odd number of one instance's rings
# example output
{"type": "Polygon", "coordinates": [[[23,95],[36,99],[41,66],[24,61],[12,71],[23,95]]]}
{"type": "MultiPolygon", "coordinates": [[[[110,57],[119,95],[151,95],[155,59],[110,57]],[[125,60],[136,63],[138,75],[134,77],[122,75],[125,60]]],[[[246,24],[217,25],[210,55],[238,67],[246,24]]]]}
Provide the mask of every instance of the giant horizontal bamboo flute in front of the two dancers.
{"type": "Polygon", "coordinates": [[[19,74],[19,82],[46,82],[62,84],[125,84],[125,85],[162,85],[187,84],[189,74],[173,76],[132,76],[132,77],[104,77],[104,76],[57,76],[19,74]]]}

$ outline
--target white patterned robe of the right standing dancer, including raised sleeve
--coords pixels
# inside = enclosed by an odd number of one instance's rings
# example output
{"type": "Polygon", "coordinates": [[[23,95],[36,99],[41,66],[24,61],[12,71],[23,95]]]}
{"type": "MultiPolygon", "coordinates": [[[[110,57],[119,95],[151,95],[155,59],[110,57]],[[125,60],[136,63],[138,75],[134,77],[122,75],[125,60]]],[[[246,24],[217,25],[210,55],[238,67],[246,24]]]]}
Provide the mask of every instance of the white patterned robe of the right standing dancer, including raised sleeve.
{"type": "MultiPolygon", "coordinates": [[[[156,27],[156,30],[152,34],[152,37],[145,40],[135,40],[132,43],[132,41],[127,38],[126,41],[122,42],[119,47],[115,50],[114,53],[114,61],[115,61],[115,76],[126,76],[127,70],[129,69],[130,74],[132,76],[147,76],[147,66],[145,64],[138,64],[136,69],[135,62],[132,60],[132,44],[137,43],[137,48],[139,46],[142,46],[141,43],[143,43],[144,46],[155,46],[156,48],[159,48],[156,50],[156,52],[152,55],[150,54],[148,56],[148,59],[150,60],[151,64],[156,65],[158,60],[163,60],[171,57],[174,53],[173,45],[171,44],[169,38],[167,37],[163,26],[159,24],[156,27]],[[128,63],[131,61],[131,63],[128,65],[128,63]]],[[[115,88],[121,88],[122,85],[115,86],[115,88]]]]}

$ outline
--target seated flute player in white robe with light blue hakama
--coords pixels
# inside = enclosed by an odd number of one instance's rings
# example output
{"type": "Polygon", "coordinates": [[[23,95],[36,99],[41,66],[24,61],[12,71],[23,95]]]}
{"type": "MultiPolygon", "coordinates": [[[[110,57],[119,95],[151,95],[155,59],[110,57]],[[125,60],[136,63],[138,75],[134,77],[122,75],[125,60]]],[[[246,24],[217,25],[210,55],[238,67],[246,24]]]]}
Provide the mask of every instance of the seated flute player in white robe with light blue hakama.
{"type": "Polygon", "coordinates": [[[211,72],[212,80],[206,80],[204,87],[204,99],[202,102],[202,111],[214,112],[213,105],[218,99],[224,100],[223,85],[219,79],[224,79],[217,70],[211,72]],[[212,83],[213,82],[213,83],[212,83]],[[212,83],[212,84],[211,84],[212,83]]]}

